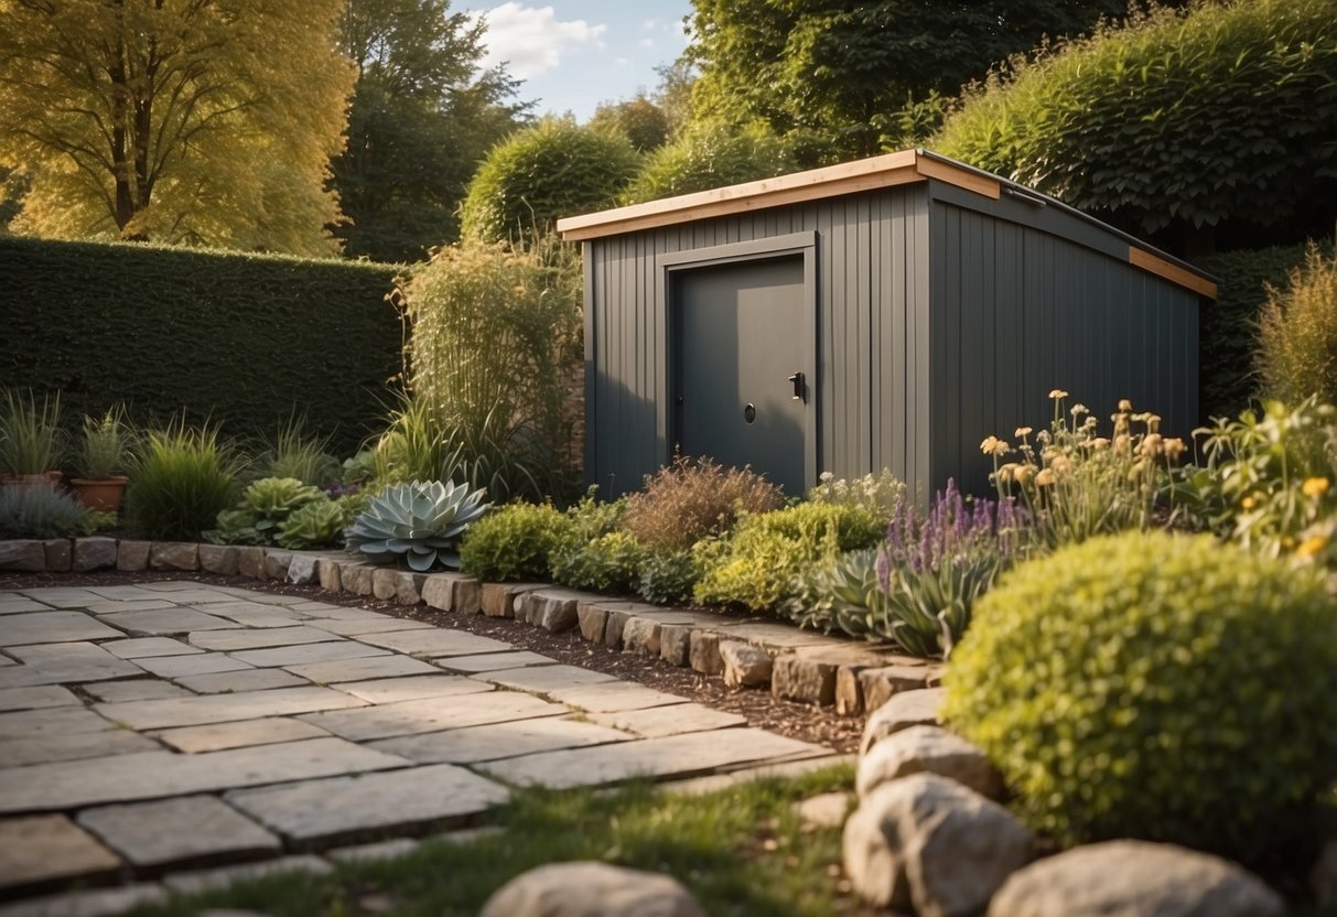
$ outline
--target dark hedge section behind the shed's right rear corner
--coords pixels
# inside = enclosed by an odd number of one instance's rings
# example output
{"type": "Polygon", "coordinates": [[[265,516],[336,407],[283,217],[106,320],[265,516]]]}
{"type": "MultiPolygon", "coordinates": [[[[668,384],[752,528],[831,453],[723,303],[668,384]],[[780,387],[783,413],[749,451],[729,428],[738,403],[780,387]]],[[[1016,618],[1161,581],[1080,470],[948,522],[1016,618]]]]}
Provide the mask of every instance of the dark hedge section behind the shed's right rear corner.
{"type": "MultiPolygon", "coordinates": [[[[1332,255],[1332,241],[1320,247],[1332,255]]],[[[1217,302],[1201,311],[1198,400],[1203,421],[1235,417],[1258,393],[1254,361],[1266,285],[1285,289],[1290,271],[1304,262],[1302,245],[1222,251],[1195,261],[1219,279],[1217,302]]]]}

